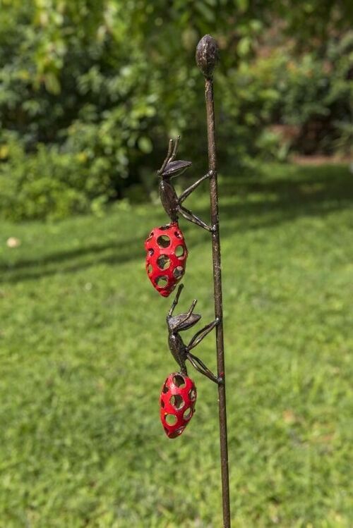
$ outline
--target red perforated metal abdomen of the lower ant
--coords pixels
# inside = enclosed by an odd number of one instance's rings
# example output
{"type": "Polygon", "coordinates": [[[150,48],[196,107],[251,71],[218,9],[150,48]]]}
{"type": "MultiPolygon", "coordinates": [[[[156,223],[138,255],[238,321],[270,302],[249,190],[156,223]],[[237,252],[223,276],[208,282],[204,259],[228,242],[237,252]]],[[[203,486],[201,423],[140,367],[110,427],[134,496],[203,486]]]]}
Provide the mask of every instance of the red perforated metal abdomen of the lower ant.
{"type": "Polygon", "coordinates": [[[160,393],[160,421],[168,438],[177,438],[189,424],[195,412],[197,392],[193,380],[173,372],[160,393]]]}

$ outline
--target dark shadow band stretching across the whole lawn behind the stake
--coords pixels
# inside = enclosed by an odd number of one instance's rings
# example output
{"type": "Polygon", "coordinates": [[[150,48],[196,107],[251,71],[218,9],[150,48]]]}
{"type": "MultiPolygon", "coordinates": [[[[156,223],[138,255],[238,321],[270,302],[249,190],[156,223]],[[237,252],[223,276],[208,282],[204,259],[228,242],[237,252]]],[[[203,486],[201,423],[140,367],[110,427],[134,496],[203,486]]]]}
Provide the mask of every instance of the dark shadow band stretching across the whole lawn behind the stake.
{"type": "MultiPolygon", "coordinates": [[[[283,166],[283,171],[288,170],[283,166]]],[[[352,208],[353,175],[342,166],[306,166],[287,178],[256,176],[225,178],[220,185],[222,237],[250,229],[268,228],[293,221],[300,216],[325,216],[333,211],[352,208]],[[222,205],[222,196],[225,204],[222,205]]],[[[209,209],[197,209],[207,219],[209,209]]],[[[157,223],[157,221],[156,221],[157,223]]],[[[152,226],[151,226],[152,227],[152,226]]],[[[182,221],[189,247],[208,240],[208,233],[182,221]]],[[[94,264],[116,265],[143,260],[143,238],[117,240],[116,243],[92,244],[56,252],[40,259],[23,259],[10,266],[0,264],[0,282],[16,283],[54,274],[80,271],[94,264]],[[72,262],[74,259],[77,262],[72,262]]]]}

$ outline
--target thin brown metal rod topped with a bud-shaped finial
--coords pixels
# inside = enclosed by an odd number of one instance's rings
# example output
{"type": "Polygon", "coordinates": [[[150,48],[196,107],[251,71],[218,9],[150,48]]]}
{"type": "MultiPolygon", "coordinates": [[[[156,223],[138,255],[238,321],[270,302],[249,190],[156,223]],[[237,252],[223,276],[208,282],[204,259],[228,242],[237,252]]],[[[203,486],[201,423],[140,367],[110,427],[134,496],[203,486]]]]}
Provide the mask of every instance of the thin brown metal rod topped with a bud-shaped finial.
{"type": "Polygon", "coordinates": [[[217,160],[215,147],[215,111],[213,102],[213,70],[217,63],[218,49],[215,39],[205,35],[196,48],[196,63],[205,76],[205,102],[207,113],[208,133],[208,164],[212,171],[210,177],[210,208],[211,222],[214,228],[212,233],[213,254],[213,284],[215,297],[215,317],[220,318],[216,326],[217,345],[217,374],[223,382],[218,385],[218,408],[220,417],[220,462],[222,474],[222,510],[223,527],[230,528],[230,501],[229,501],[229,467],[228,467],[228,442],[227,442],[227,410],[225,393],[225,350],[223,343],[223,312],[222,312],[222,276],[220,260],[220,223],[218,218],[218,189],[217,189],[217,160]]]}

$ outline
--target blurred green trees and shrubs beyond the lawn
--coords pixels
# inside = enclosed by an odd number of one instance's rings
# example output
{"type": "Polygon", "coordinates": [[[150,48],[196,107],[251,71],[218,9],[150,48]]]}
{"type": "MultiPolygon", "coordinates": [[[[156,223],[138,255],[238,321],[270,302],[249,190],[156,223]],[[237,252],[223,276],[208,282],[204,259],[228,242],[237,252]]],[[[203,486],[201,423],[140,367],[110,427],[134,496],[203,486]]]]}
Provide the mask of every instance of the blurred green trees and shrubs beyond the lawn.
{"type": "Polygon", "coordinates": [[[205,154],[194,51],[220,45],[217,135],[237,173],[349,155],[350,0],[1,0],[0,216],[102,211],[155,188],[168,135],[205,154]]]}

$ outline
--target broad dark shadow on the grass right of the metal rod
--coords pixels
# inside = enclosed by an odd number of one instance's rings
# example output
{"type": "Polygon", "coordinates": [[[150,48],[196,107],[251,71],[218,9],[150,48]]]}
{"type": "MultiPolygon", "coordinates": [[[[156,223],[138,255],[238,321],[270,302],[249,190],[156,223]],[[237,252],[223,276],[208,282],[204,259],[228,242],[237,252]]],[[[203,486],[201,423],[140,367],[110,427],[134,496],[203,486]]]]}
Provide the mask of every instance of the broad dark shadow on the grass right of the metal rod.
{"type": "MultiPolygon", "coordinates": [[[[285,166],[283,171],[285,171],[285,166]]],[[[353,174],[345,167],[301,167],[295,179],[248,178],[222,185],[225,196],[237,196],[221,207],[222,220],[236,218],[237,231],[265,228],[300,216],[325,216],[353,205],[353,174]],[[251,200],[251,196],[261,199],[251,200]]],[[[223,230],[222,230],[223,231],[223,230]]]]}

